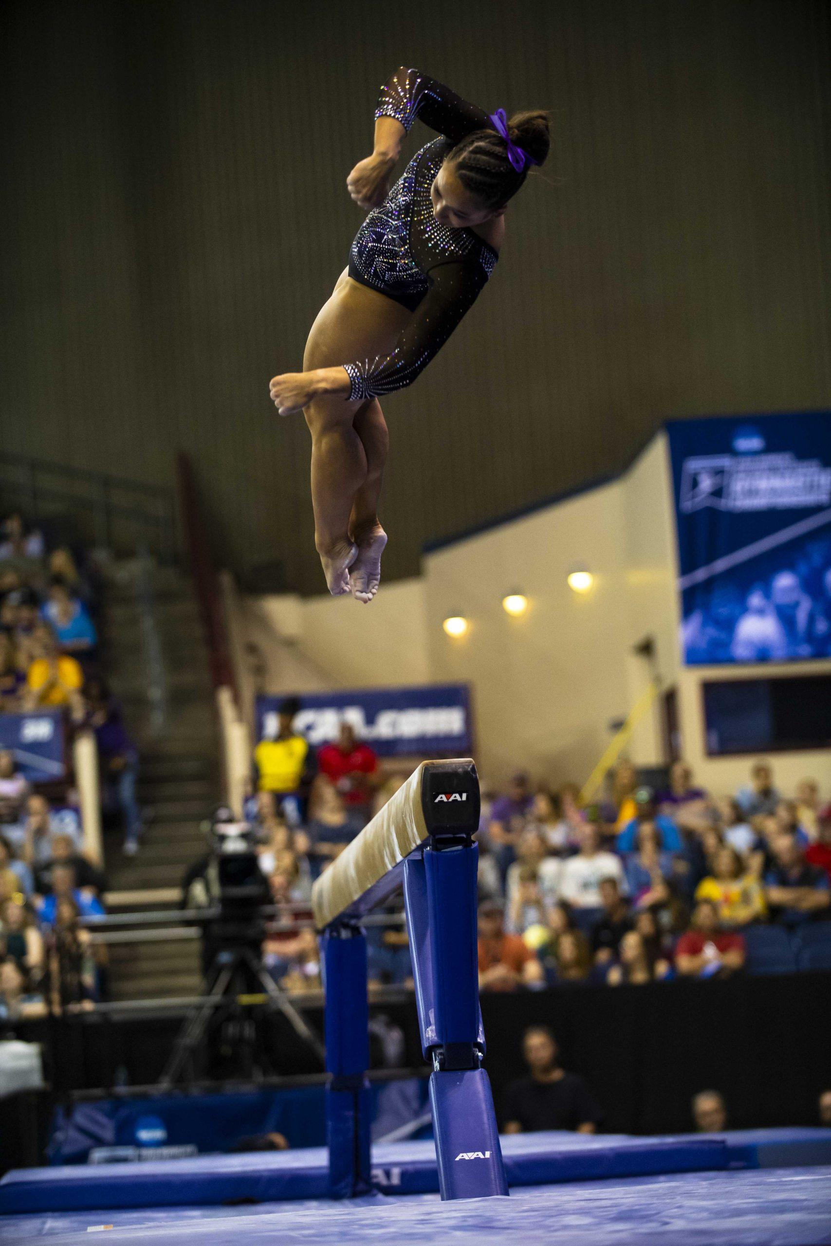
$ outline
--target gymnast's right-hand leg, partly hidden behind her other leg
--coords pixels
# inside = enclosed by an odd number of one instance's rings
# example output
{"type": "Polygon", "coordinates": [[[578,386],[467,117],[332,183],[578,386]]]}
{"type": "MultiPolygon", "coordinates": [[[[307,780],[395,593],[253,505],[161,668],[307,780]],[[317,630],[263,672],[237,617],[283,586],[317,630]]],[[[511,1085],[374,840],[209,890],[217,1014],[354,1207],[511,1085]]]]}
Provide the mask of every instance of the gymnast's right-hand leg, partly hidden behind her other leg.
{"type": "Polygon", "coordinates": [[[390,447],[386,420],[378,399],[358,411],[353,427],[366,455],[366,478],[355,495],[349,520],[349,535],[358,546],[358,557],[349,569],[349,587],[359,602],[371,602],[381,579],[381,554],[386,532],[378,517],[384,465],[390,447]]]}

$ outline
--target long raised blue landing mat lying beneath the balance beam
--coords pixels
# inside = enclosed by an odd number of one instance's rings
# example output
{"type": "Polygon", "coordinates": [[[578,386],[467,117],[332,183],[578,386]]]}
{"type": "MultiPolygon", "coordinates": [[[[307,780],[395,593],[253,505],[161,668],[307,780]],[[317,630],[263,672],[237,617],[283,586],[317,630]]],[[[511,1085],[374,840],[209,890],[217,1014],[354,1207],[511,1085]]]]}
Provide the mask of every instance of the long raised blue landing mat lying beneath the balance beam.
{"type": "MultiPolygon", "coordinates": [[[[508,1184],[518,1187],[669,1172],[831,1165],[831,1129],[674,1138],[517,1134],[502,1139],[502,1151],[508,1184]]],[[[432,1141],[375,1146],[373,1176],[384,1192],[436,1192],[439,1176],[432,1141]]],[[[326,1195],[326,1180],[324,1148],[17,1169],[0,1181],[0,1215],[320,1199],[326,1195]]]]}

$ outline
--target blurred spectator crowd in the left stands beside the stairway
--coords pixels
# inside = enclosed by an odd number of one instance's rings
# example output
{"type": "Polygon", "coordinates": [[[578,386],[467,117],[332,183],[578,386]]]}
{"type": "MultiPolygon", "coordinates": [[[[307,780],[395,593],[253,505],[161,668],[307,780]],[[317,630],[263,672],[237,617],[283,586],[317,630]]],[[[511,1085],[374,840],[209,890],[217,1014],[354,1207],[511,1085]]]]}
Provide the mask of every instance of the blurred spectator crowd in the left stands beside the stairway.
{"type": "MultiPolygon", "coordinates": [[[[66,740],[95,734],[102,797],[138,847],[137,754],[98,668],[95,573],[12,513],[0,527],[0,718],[64,715],[66,740]]],[[[12,733],[14,734],[14,733],[12,733]]],[[[4,735],[10,743],[10,736],[4,735]]],[[[62,778],[32,778],[25,749],[0,748],[0,1022],[83,1008],[106,989],[106,958],[80,925],[103,913],[101,870],[83,852],[78,796],[62,778]]],[[[57,766],[56,769],[60,769],[57,766]]]]}

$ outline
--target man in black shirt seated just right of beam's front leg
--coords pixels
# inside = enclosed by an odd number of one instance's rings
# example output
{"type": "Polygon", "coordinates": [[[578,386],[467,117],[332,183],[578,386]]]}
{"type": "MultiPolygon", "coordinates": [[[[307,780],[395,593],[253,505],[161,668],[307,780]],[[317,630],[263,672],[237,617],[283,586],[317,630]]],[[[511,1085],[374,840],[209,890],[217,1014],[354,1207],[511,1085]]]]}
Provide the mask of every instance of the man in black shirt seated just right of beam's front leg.
{"type": "Polygon", "coordinates": [[[502,1108],[506,1134],[571,1129],[593,1134],[603,1120],[583,1078],[566,1073],[559,1050],[547,1025],[531,1025],[522,1039],[522,1054],[529,1078],[511,1082],[502,1108]]]}

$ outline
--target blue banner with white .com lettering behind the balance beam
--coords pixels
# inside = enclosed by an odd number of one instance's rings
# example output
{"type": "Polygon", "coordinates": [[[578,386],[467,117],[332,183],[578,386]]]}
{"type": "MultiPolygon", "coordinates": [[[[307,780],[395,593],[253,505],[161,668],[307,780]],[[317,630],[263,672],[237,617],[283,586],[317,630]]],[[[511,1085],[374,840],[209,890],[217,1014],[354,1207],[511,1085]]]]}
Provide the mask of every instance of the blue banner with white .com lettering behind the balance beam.
{"type": "MultiPolygon", "coordinates": [[[[283,697],[257,698],[257,739],[278,730],[283,697]]],[[[318,748],[336,739],[341,719],[379,756],[470,755],[473,745],[467,684],[417,688],[361,688],[356,692],[303,693],[294,728],[318,748]]]]}

